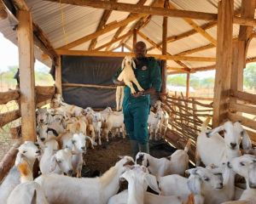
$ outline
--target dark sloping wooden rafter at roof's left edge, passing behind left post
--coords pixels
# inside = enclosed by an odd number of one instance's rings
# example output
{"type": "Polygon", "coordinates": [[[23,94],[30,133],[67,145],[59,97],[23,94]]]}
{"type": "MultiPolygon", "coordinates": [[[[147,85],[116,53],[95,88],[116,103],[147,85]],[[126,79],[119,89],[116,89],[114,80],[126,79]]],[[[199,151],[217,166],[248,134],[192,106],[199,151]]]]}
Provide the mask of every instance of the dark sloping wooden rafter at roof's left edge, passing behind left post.
{"type": "MultiPolygon", "coordinates": [[[[18,8],[19,10],[29,10],[24,0],[15,0],[14,3],[16,8],[18,8]]],[[[55,48],[53,48],[53,46],[49,42],[49,39],[44,34],[44,31],[42,31],[42,29],[33,21],[32,28],[35,44],[39,48],[41,48],[45,54],[48,54],[53,61],[57,62],[58,54],[56,54],[55,48]]]]}

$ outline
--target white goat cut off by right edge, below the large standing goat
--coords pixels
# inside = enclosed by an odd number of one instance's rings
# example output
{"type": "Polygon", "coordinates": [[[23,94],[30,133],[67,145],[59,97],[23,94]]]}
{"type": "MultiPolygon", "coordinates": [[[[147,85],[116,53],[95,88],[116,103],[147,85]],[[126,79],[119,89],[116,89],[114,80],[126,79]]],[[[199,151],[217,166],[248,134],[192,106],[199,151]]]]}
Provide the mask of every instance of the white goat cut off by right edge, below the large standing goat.
{"type": "Polygon", "coordinates": [[[251,155],[236,157],[230,161],[229,165],[247,182],[247,189],[243,191],[239,200],[256,203],[256,157],[251,155]]]}

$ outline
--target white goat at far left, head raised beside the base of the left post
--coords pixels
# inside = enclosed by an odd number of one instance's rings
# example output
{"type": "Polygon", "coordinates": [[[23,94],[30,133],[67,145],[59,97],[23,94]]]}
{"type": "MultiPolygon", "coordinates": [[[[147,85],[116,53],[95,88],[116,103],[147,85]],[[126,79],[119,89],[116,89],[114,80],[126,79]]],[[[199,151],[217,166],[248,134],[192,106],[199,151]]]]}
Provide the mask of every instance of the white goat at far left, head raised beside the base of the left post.
{"type": "Polygon", "coordinates": [[[26,161],[29,167],[32,169],[34,162],[38,156],[40,156],[40,150],[31,141],[26,141],[19,147],[19,152],[16,156],[15,166],[11,168],[3,183],[0,186],[0,201],[6,203],[9,194],[15,189],[15,186],[20,184],[20,173],[16,167],[20,162],[26,161]]]}

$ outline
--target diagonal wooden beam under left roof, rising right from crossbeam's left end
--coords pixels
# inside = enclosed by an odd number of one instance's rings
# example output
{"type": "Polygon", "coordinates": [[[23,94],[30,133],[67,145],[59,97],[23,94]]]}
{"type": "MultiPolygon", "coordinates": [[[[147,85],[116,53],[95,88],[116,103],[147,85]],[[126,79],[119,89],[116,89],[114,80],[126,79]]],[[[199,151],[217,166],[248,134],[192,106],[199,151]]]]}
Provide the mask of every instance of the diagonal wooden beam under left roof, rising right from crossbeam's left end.
{"type": "Polygon", "coordinates": [[[79,44],[82,44],[84,42],[90,41],[91,39],[94,39],[96,37],[99,37],[109,31],[113,31],[116,28],[119,28],[120,26],[125,26],[129,23],[131,23],[134,20],[137,20],[141,17],[143,17],[145,14],[134,14],[131,17],[125,19],[125,20],[120,20],[119,22],[115,23],[115,24],[111,24],[109,26],[105,26],[102,30],[100,31],[96,31],[93,32],[85,37],[81,37],[78,40],[75,40],[73,42],[68,43],[67,45],[62,46],[61,48],[57,48],[57,49],[70,49],[70,48],[74,48],[76,46],[78,46],[79,44]]]}

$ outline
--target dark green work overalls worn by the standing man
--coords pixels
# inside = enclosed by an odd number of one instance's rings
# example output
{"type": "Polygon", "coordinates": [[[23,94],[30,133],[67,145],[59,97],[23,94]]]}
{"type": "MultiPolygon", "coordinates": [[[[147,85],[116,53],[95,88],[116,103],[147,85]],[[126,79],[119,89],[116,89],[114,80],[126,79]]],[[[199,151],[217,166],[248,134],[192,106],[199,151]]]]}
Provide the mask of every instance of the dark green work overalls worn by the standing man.
{"type": "MultiPolygon", "coordinates": [[[[150,57],[144,58],[136,69],[133,69],[137,81],[144,90],[153,87],[156,92],[160,92],[161,75],[160,66],[157,61],[150,57]]],[[[114,78],[119,77],[121,68],[115,73],[114,78]]],[[[137,86],[133,83],[137,90],[137,86]]],[[[137,140],[139,144],[148,143],[148,114],[150,105],[150,95],[134,98],[131,95],[131,89],[125,86],[125,95],[123,101],[123,113],[125,118],[126,132],[131,140],[137,140]]]]}

